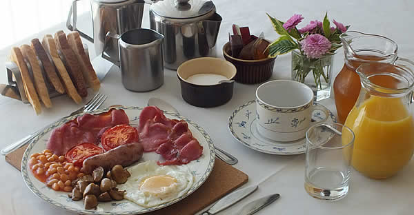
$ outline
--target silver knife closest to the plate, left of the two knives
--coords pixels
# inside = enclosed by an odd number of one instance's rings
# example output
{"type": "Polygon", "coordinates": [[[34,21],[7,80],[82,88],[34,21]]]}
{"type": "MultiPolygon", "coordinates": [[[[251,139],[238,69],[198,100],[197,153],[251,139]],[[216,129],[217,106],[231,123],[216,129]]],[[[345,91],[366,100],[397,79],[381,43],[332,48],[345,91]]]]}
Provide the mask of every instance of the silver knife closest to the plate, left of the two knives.
{"type": "Polygon", "coordinates": [[[231,205],[234,205],[238,201],[242,200],[244,197],[252,194],[257,190],[256,186],[246,187],[240,190],[237,190],[235,192],[232,192],[228,194],[227,196],[224,196],[221,198],[213,207],[210,207],[206,212],[201,213],[201,215],[213,215],[217,214],[218,212],[221,212],[222,210],[226,209],[227,207],[230,207],[231,205]]]}

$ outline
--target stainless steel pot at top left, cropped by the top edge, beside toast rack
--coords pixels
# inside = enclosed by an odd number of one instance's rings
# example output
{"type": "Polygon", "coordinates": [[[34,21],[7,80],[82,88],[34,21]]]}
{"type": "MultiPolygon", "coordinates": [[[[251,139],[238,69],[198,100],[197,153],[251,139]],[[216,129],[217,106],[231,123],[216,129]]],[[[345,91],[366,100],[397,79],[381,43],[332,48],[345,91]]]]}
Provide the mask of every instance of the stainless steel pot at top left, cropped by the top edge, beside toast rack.
{"type": "MultiPolygon", "coordinates": [[[[76,28],[77,1],[73,0],[69,11],[66,26],[69,30],[76,30],[81,37],[94,43],[95,52],[101,55],[107,32],[124,34],[128,30],[141,28],[144,14],[144,0],[90,0],[92,10],[93,38],[76,28]],[[73,16],[72,16],[73,13],[73,16]],[[73,25],[71,18],[73,17],[73,25]]],[[[118,44],[109,44],[106,53],[110,57],[117,57],[118,44]]]]}

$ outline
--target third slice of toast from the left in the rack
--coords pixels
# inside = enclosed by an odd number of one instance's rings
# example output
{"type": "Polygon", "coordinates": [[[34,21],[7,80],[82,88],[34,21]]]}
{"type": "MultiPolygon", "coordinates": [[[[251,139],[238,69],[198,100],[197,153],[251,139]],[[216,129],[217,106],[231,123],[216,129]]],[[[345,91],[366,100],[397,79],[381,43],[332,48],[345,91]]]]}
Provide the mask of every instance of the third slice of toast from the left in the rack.
{"type": "Polygon", "coordinates": [[[48,80],[50,83],[52,83],[53,88],[60,94],[65,92],[65,88],[63,88],[63,85],[59,79],[59,76],[57,76],[55,67],[52,65],[48,58],[48,54],[46,54],[45,49],[43,46],[41,46],[41,43],[39,39],[32,39],[32,49],[36,53],[37,57],[41,61],[41,64],[43,65],[43,69],[45,70],[46,76],[48,76],[48,80]]]}

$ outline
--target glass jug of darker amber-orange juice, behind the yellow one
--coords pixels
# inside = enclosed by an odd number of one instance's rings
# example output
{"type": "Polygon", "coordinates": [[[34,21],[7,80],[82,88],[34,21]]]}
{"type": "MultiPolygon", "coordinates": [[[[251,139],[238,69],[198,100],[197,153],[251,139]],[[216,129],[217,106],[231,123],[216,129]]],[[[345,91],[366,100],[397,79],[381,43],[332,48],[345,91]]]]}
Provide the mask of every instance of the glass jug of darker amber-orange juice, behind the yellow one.
{"type": "MultiPolygon", "coordinates": [[[[362,63],[406,63],[406,59],[397,56],[398,46],[386,37],[365,34],[357,31],[347,31],[339,36],[344,45],[345,63],[333,83],[335,105],[338,119],[344,123],[346,116],[357,101],[361,84],[355,72],[362,63]]],[[[409,65],[413,67],[413,65],[409,65]]]]}

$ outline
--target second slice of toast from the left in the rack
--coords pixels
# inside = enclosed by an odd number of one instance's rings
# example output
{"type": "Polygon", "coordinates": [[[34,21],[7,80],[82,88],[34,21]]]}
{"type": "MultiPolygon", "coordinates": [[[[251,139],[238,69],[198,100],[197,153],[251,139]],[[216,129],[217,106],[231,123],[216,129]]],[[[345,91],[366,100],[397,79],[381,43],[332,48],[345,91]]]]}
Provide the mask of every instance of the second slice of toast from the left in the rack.
{"type": "Polygon", "coordinates": [[[41,73],[41,68],[39,61],[37,61],[36,54],[34,54],[30,45],[21,45],[20,50],[26,61],[30,63],[30,68],[32,68],[34,88],[36,88],[37,94],[39,94],[41,101],[46,107],[52,107],[52,101],[50,101],[48,88],[46,88],[45,79],[41,73]]]}

